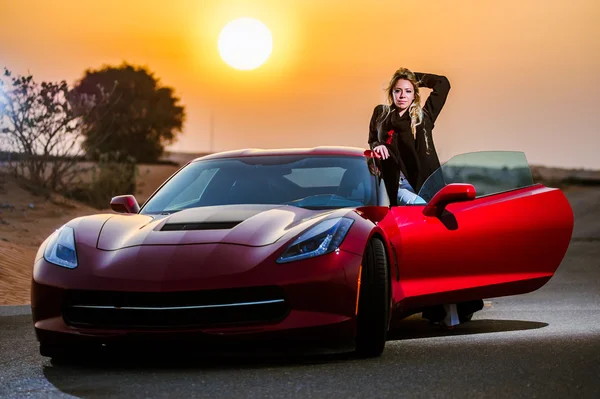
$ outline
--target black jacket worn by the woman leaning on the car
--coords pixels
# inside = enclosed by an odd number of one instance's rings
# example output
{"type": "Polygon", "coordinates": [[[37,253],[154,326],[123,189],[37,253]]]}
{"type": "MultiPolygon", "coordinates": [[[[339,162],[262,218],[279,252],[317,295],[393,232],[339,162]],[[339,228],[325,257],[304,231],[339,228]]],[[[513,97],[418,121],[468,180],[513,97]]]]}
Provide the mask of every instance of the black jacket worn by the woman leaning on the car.
{"type": "Polygon", "coordinates": [[[433,90],[423,107],[423,121],[416,128],[416,137],[413,137],[410,128],[408,111],[399,116],[395,105],[391,106],[388,115],[385,115],[384,105],[376,106],[369,124],[369,147],[373,149],[383,144],[391,155],[387,160],[381,161],[381,170],[393,205],[396,204],[396,196],[392,193],[398,191],[400,171],[418,192],[425,180],[440,167],[432,131],[435,120],[446,103],[450,82],[445,76],[420,72],[415,75],[420,82],[419,87],[433,90]],[[429,152],[425,145],[426,139],[429,152]]]}

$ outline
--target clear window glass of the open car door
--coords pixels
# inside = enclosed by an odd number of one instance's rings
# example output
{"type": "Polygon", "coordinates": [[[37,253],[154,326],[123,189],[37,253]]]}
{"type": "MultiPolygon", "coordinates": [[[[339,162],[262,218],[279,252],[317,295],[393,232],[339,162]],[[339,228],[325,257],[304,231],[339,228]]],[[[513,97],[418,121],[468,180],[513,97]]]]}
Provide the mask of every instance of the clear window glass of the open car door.
{"type": "Polygon", "coordinates": [[[523,152],[481,151],[457,155],[425,181],[419,196],[429,202],[450,183],[475,186],[477,197],[533,185],[529,163],[523,152]]]}

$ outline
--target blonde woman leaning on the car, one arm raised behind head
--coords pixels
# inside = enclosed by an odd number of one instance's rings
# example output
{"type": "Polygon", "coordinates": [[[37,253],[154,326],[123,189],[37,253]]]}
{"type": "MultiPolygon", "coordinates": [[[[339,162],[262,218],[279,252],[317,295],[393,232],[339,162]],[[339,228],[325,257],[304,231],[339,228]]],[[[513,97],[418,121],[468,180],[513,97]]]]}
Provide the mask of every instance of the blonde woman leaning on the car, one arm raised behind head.
{"type": "Polygon", "coordinates": [[[389,105],[373,110],[369,147],[381,159],[392,205],[425,202],[415,192],[440,167],[432,131],[449,91],[450,82],[444,76],[400,68],[386,89],[389,105]],[[423,107],[419,87],[433,90],[423,107]]]}

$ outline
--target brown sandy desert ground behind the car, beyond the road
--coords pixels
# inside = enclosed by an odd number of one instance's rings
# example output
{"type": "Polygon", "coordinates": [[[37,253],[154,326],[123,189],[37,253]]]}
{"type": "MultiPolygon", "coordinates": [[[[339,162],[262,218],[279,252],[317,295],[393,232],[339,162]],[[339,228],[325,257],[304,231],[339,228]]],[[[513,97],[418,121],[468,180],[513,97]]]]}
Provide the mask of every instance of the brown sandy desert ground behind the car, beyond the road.
{"type": "MultiPolygon", "coordinates": [[[[193,155],[173,154],[169,159],[182,165],[192,158],[193,155]]],[[[142,204],[179,168],[140,165],[135,193],[138,202],[142,204]]],[[[577,186],[569,185],[573,181],[594,185],[600,181],[600,171],[532,167],[532,172],[537,181],[548,182],[553,187],[558,184],[564,191],[576,189],[577,186]]],[[[112,212],[109,201],[107,198],[106,209],[98,210],[57,194],[46,199],[0,174],[0,305],[29,304],[33,261],[40,244],[52,231],[73,218],[112,212]]]]}

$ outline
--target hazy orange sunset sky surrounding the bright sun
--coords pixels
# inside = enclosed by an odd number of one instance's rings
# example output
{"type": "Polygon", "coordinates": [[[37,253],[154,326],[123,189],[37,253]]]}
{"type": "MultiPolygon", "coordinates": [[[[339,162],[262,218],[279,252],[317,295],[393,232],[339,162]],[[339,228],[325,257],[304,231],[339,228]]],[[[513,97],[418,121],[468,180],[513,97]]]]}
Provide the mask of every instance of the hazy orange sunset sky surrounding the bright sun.
{"type": "Polygon", "coordinates": [[[146,65],[175,88],[187,123],[175,151],[366,147],[395,69],[446,75],[442,161],[524,151],[531,163],[600,169],[598,0],[0,0],[0,66],[72,83],[86,68],[146,65]],[[122,5],[122,4],[126,5],[122,5]],[[219,57],[230,20],[273,34],[271,58],[219,57]]]}

